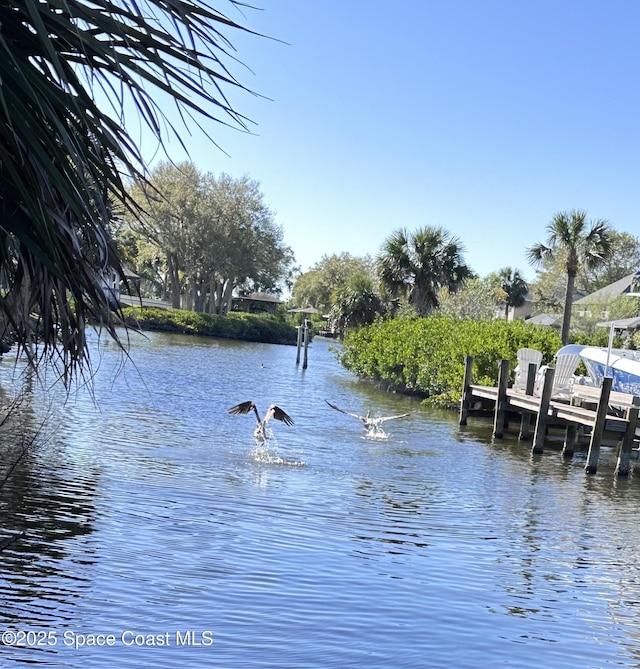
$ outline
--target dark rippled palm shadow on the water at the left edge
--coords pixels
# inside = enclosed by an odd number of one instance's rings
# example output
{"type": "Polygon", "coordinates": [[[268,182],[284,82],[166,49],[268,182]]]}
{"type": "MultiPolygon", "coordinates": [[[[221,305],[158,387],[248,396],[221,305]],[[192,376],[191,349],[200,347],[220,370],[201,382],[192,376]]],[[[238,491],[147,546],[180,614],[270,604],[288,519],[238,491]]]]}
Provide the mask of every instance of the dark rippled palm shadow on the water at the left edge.
{"type": "MultiPolygon", "coordinates": [[[[73,608],[87,579],[70,559],[69,543],[93,532],[96,513],[97,474],[66,462],[47,434],[37,381],[23,380],[15,398],[5,402],[3,391],[0,426],[0,620],[12,626],[64,619],[73,608]]],[[[91,549],[82,562],[91,564],[91,549]]]]}

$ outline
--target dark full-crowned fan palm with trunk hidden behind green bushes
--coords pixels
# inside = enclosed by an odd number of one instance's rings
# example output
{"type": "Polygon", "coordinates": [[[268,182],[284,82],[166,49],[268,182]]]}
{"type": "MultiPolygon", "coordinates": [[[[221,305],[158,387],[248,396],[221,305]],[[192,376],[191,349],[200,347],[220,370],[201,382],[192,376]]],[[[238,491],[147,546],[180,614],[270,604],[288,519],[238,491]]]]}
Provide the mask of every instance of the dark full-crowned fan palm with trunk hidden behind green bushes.
{"type": "Polygon", "coordinates": [[[438,307],[440,288],[454,293],[472,276],[463,251],[460,240],[443,228],[427,226],[412,234],[401,229],[383,244],[376,272],[392,296],[405,298],[425,316],[438,307]]]}

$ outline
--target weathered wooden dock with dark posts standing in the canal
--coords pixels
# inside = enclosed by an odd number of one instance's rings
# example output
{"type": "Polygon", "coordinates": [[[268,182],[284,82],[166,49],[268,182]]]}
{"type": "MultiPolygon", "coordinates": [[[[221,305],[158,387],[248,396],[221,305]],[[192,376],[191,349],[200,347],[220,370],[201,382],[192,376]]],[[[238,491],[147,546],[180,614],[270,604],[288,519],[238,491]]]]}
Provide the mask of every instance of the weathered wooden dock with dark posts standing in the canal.
{"type": "Polygon", "coordinates": [[[473,384],[473,358],[465,359],[465,374],[460,402],[460,425],[470,416],[493,413],[493,437],[500,439],[509,427],[509,417],[517,414],[518,439],[531,442],[533,454],[542,453],[550,428],[564,430],[564,457],[588,443],[585,472],[598,469],[600,447],[618,448],[616,476],[628,476],[631,454],[638,441],[640,397],[611,390],[612,379],[605,377],[602,387],[574,385],[562,395],[552,395],[554,368],[544,376],[542,392],[534,395],[535,365],[529,368],[524,392],[508,387],[509,361],[500,362],[498,386],[473,384]]]}

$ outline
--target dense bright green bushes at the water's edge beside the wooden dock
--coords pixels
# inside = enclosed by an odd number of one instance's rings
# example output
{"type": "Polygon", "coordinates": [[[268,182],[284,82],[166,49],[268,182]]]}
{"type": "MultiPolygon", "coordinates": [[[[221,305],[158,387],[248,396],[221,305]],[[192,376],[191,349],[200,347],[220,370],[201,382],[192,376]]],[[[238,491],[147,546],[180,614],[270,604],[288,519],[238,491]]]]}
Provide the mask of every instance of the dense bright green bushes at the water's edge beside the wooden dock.
{"type": "Polygon", "coordinates": [[[430,404],[454,407],[462,392],[465,356],[473,356],[475,383],[495,385],[500,360],[509,360],[513,370],[519,348],[537,348],[543,363],[549,363],[561,346],[555,330],[522,320],[396,318],[348,332],[340,361],[359,376],[417,393],[430,404]]]}

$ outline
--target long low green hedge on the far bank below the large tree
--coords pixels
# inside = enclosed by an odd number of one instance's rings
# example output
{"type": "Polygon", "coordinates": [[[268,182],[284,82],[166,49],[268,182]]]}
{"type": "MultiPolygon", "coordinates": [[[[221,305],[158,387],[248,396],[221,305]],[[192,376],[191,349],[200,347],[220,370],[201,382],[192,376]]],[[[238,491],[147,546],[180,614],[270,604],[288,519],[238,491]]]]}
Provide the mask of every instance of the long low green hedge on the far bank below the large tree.
{"type": "Polygon", "coordinates": [[[228,316],[181,309],[126,307],[125,322],[141,330],[160,330],[223,339],[242,339],[267,344],[295,344],[296,328],[284,319],[267,314],[232,312],[228,316]]]}

